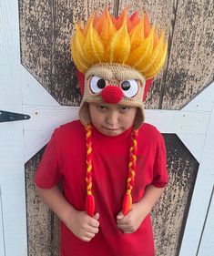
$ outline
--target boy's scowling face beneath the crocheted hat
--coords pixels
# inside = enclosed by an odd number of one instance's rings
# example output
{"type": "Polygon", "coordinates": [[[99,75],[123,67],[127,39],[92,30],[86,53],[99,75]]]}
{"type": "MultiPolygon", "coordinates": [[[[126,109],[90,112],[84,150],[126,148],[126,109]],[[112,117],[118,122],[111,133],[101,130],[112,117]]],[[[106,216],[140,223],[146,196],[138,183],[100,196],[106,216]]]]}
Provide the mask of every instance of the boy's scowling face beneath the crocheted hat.
{"type": "Polygon", "coordinates": [[[89,112],[92,124],[97,130],[107,136],[117,136],[133,125],[137,108],[89,103],[89,112]]]}

